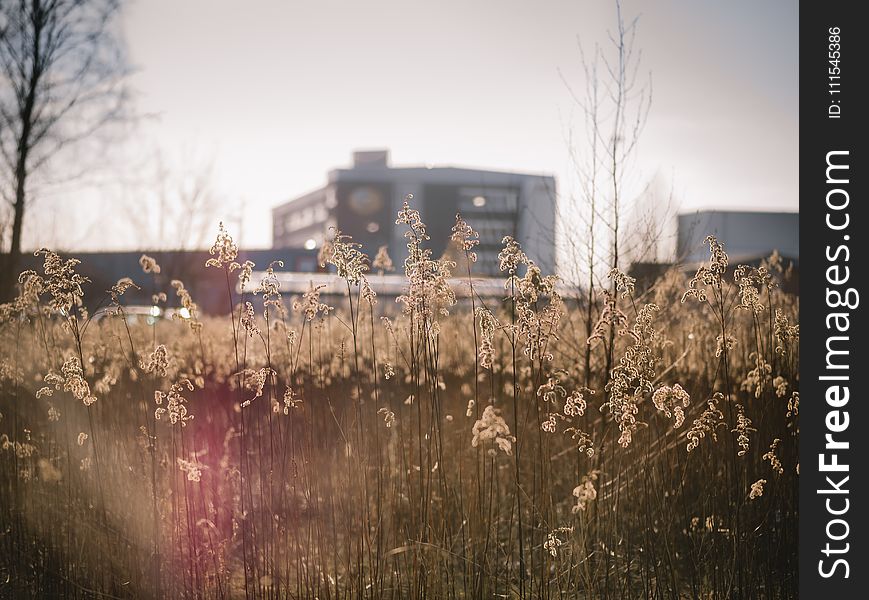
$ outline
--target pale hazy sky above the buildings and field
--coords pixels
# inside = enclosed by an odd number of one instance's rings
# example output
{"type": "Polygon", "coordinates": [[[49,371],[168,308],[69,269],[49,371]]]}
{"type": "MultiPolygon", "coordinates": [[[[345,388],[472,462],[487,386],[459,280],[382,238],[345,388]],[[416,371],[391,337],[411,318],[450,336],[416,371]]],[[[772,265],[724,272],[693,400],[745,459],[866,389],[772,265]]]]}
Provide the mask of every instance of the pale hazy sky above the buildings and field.
{"type": "MultiPolygon", "coordinates": [[[[625,0],[622,11],[639,19],[653,89],[633,185],[656,178],[682,212],[798,210],[797,3],[625,0]]],[[[121,19],[143,118],[111,148],[103,183],[75,192],[91,209],[73,192],[46,195],[33,246],[196,246],[222,219],[266,248],[271,208],[323,185],[356,149],[388,148],[395,166],[552,174],[575,196],[579,47],[606,44],[616,11],[608,0],[137,0],[121,19]]]]}

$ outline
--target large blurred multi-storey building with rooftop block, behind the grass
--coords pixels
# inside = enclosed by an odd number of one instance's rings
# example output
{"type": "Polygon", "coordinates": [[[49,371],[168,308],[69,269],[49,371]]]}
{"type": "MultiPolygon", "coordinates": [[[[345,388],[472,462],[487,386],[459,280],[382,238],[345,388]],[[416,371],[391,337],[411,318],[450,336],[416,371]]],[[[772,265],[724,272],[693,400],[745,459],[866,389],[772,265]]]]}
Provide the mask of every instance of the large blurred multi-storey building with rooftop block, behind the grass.
{"type": "Polygon", "coordinates": [[[555,272],[555,179],[551,176],[456,167],[392,167],[387,150],[356,152],[353,166],[328,173],[324,187],[272,210],[275,248],[319,248],[330,227],[373,256],[387,246],[396,265],[407,254],[404,227],[395,225],[413,194],[435,258],[447,249],[456,213],[480,234],[479,274],[498,273],[506,235],[515,237],[544,272],[555,272]]]}

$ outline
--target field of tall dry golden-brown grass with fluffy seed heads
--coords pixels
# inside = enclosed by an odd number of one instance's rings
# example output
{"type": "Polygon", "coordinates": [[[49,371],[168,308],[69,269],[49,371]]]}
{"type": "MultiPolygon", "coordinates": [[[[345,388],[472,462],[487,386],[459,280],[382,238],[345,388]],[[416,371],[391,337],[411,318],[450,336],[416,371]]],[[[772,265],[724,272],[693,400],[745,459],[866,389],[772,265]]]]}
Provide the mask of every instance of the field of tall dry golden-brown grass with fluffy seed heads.
{"type": "Polygon", "coordinates": [[[454,261],[396,223],[396,302],[383,251],[335,232],[346,294],[291,298],[221,226],[222,317],[147,256],[104,291],[41,251],[0,308],[0,597],[796,596],[777,256],[710,237],[695,276],[613,270],[588,307],[505,238],[492,299],[460,217],[454,261]],[[132,323],[132,286],[186,318],[132,323]]]}

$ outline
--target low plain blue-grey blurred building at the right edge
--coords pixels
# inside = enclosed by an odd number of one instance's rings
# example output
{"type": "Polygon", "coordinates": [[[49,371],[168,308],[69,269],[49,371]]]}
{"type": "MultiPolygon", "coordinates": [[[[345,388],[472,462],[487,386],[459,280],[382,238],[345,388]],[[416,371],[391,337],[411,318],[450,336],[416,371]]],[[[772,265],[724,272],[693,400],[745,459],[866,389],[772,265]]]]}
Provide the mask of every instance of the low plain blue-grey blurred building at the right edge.
{"type": "Polygon", "coordinates": [[[794,263],[800,258],[800,215],[789,212],[705,210],[678,217],[676,258],[685,264],[709,260],[703,242],[714,235],[731,263],[752,263],[778,250],[794,263]]]}

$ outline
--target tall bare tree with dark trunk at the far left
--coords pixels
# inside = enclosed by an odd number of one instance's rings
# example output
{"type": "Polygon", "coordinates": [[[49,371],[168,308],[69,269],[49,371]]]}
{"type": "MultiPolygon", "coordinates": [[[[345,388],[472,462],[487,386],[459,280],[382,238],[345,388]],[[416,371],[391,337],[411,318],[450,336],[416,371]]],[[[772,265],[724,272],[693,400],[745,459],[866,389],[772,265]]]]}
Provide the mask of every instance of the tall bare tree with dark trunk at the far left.
{"type": "Polygon", "coordinates": [[[0,294],[18,267],[36,175],[121,114],[120,1],[0,0],[0,193],[12,212],[0,294]]]}

